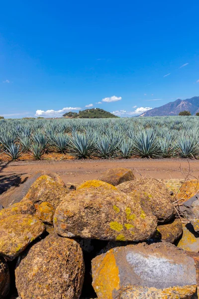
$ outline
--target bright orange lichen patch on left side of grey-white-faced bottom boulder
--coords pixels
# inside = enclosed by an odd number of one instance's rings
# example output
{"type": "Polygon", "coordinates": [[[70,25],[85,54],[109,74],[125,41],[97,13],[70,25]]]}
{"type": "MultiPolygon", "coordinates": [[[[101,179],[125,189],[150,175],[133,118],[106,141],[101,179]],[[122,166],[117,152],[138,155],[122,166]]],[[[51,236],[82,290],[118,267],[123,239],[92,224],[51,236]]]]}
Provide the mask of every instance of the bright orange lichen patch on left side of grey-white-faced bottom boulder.
{"type": "Polygon", "coordinates": [[[106,253],[101,263],[93,265],[93,271],[98,273],[93,281],[98,298],[113,299],[113,291],[119,290],[119,269],[112,250],[106,253]]]}

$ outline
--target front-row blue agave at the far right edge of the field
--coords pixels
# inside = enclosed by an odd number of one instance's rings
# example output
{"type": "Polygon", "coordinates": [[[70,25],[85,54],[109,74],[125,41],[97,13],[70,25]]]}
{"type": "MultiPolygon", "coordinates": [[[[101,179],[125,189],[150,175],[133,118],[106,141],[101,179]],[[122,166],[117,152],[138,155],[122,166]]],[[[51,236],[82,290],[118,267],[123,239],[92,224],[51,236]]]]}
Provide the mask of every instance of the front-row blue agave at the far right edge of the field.
{"type": "Polygon", "coordinates": [[[199,145],[193,137],[181,136],[176,143],[176,152],[182,158],[194,158],[199,155],[199,145]]]}

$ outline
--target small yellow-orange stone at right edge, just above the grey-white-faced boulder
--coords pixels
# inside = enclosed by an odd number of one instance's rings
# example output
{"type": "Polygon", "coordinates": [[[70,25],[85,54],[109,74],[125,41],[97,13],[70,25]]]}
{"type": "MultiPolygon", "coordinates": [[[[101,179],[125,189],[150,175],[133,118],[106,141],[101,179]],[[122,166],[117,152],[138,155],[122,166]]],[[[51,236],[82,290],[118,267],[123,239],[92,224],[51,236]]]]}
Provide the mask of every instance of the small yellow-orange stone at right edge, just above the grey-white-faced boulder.
{"type": "Polygon", "coordinates": [[[199,235],[194,231],[191,223],[183,224],[183,235],[177,247],[187,251],[199,252],[199,235]]]}

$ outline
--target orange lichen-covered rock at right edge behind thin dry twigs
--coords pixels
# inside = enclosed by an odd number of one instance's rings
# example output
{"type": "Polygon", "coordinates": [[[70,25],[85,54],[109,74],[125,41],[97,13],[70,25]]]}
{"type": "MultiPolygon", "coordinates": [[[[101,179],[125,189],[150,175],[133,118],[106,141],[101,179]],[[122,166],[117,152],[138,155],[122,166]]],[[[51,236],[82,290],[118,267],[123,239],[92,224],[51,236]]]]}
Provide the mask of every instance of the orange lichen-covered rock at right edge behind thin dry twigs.
{"type": "Polygon", "coordinates": [[[183,201],[188,200],[199,192],[199,181],[197,179],[186,181],[182,184],[177,197],[183,201]]]}

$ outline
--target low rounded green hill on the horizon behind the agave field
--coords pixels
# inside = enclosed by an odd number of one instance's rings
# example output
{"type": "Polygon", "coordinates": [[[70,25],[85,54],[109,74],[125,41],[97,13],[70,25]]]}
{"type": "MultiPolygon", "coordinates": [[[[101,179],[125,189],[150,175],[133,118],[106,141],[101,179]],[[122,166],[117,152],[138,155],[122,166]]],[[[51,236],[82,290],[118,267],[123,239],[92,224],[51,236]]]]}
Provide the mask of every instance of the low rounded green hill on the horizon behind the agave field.
{"type": "Polygon", "coordinates": [[[79,111],[79,113],[70,111],[63,116],[67,118],[117,118],[116,115],[100,108],[86,109],[79,111]]]}

